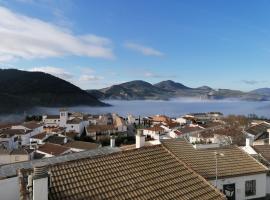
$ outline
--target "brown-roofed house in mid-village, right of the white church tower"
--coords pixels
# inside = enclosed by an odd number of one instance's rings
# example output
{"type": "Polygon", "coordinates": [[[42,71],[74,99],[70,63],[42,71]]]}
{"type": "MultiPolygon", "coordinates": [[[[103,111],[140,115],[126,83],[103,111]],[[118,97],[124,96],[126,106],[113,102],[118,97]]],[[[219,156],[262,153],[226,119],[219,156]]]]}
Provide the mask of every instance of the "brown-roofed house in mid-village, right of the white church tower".
{"type": "Polygon", "coordinates": [[[89,125],[86,128],[86,135],[94,140],[99,140],[102,137],[109,137],[117,132],[114,125],[89,125]]]}

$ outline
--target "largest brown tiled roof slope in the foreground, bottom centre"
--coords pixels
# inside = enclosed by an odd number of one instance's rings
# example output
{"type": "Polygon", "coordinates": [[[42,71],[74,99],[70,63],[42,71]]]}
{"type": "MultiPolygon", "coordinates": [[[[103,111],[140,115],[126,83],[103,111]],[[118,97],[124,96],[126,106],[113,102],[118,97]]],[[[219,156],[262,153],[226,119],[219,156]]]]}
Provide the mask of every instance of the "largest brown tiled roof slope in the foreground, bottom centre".
{"type": "Polygon", "coordinates": [[[50,183],[50,200],[225,199],[161,145],[52,165],[50,183]]]}

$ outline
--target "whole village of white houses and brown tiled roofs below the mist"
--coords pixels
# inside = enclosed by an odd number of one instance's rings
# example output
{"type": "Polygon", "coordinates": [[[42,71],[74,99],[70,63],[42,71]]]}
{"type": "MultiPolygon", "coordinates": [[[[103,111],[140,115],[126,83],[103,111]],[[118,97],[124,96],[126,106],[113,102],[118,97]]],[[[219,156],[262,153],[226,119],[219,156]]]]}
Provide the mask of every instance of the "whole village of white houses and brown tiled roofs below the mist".
{"type": "Polygon", "coordinates": [[[6,200],[114,199],[123,194],[111,190],[125,186],[131,199],[157,191],[167,199],[267,199],[269,134],[268,120],[220,112],[171,118],[60,109],[39,121],[0,126],[0,194],[6,200]]]}

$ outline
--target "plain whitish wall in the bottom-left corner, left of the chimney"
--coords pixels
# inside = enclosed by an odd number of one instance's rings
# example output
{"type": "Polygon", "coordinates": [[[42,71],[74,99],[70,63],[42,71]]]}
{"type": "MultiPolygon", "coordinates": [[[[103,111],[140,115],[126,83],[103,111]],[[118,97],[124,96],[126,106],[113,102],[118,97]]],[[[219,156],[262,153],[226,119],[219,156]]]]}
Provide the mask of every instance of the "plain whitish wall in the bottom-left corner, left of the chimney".
{"type": "Polygon", "coordinates": [[[20,197],[18,177],[0,180],[0,194],[0,199],[18,200],[20,197]]]}

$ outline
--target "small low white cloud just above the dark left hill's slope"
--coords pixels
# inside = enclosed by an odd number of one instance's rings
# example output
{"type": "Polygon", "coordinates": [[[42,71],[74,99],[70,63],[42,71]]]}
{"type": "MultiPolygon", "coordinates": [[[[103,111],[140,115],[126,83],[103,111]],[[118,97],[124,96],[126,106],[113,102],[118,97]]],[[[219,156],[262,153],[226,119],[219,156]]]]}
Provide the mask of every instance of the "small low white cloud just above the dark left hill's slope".
{"type": "Polygon", "coordinates": [[[67,72],[64,69],[58,68],[58,67],[50,67],[50,66],[35,67],[35,68],[30,69],[29,71],[44,72],[47,74],[51,74],[53,76],[57,76],[57,77],[62,78],[62,79],[72,79],[73,78],[73,75],[70,72],[67,72]]]}

